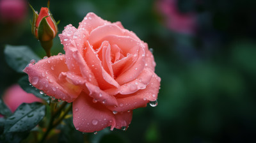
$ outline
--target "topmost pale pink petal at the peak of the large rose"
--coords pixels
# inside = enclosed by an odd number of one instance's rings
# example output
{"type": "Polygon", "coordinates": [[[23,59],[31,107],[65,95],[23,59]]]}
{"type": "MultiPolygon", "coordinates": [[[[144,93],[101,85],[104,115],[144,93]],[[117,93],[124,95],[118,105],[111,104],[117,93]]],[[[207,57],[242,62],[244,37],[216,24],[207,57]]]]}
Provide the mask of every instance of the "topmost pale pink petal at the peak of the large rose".
{"type": "Polygon", "coordinates": [[[90,12],[84,17],[83,21],[81,24],[79,24],[78,28],[84,28],[88,33],[90,34],[91,31],[99,26],[103,26],[106,24],[111,24],[107,20],[103,20],[94,13],[90,12]]]}

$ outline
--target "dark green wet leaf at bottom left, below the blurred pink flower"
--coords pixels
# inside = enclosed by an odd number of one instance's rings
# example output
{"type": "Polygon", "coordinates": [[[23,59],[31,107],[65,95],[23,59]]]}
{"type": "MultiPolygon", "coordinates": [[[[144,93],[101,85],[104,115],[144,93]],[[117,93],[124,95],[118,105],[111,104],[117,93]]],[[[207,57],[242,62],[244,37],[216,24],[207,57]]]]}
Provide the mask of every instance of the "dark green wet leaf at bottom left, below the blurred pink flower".
{"type": "Polygon", "coordinates": [[[4,133],[31,130],[45,116],[45,105],[39,102],[22,103],[14,114],[6,119],[4,133]]]}

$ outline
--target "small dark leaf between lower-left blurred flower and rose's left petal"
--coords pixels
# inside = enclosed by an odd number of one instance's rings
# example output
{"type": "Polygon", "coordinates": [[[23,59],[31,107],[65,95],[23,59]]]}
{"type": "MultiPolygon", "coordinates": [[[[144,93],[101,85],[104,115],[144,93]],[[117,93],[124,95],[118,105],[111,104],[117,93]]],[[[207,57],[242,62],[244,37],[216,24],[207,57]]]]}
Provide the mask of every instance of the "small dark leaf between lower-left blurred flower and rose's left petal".
{"type": "Polygon", "coordinates": [[[35,87],[29,86],[29,80],[28,75],[25,75],[24,77],[21,77],[18,81],[20,87],[26,91],[27,93],[32,93],[36,97],[42,98],[43,100],[49,100],[49,96],[45,96],[44,94],[41,94],[38,89],[35,87]]]}

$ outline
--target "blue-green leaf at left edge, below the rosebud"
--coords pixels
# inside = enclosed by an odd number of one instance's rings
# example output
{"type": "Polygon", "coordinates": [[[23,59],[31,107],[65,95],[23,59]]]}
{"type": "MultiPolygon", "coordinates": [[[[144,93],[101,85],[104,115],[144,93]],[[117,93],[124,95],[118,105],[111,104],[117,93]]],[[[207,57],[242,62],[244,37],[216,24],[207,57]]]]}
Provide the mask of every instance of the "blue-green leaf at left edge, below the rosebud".
{"type": "Polygon", "coordinates": [[[22,73],[31,59],[40,60],[36,54],[27,46],[6,45],[4,49],[6,63],[16,72],[22,73]]]}

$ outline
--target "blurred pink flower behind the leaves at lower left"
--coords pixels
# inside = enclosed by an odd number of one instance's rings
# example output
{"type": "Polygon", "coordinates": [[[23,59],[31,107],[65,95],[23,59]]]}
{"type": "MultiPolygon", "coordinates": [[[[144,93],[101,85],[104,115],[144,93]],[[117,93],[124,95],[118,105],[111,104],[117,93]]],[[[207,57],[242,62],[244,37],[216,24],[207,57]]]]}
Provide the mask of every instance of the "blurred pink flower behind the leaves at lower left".
{"type": "Polygon", "coordinates": [[[3,102],[9,109],[14,112],[22,103],[42,102],[32,93],[26,93],[19,85],[15,84],[9,87],[4,95],[3,102]]]}

